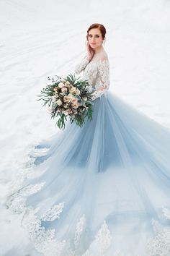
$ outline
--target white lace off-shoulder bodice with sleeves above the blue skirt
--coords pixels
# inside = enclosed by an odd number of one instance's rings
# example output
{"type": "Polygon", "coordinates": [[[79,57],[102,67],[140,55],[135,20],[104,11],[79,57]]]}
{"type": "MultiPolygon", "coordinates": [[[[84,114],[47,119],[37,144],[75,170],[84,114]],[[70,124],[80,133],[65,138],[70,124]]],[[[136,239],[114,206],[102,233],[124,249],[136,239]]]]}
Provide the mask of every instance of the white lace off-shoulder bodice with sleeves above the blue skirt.
{"type": "Polygon", "coordinates": [[[94,54],[91,61],[86,53],[74,71],[76,74],[83,72],[82,78],[89,81],[89,89],[94,89],[93,99],[100,97],[109,89],[109,59],[105,51],[94,54]]]}

